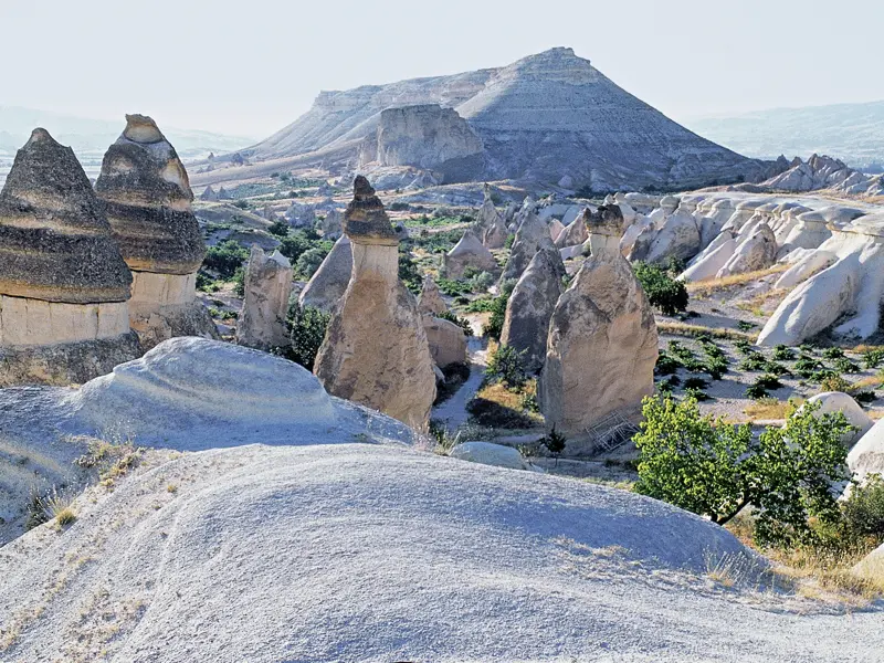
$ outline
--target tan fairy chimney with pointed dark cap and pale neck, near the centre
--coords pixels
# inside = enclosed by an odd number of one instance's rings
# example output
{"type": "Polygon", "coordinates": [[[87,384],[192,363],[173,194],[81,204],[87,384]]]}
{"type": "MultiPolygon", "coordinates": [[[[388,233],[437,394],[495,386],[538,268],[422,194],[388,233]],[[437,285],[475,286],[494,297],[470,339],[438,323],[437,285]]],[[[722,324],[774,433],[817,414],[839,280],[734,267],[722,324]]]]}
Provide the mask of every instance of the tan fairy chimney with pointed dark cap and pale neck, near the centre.
{"type": "Polygon", "coordinates": [[[399,281],[396,232],[362,176],[354,182],[344,232],[352,274],[314,371],[329,393],[425,427],[435,399],[427,334],[413,295],[399,281]]]}

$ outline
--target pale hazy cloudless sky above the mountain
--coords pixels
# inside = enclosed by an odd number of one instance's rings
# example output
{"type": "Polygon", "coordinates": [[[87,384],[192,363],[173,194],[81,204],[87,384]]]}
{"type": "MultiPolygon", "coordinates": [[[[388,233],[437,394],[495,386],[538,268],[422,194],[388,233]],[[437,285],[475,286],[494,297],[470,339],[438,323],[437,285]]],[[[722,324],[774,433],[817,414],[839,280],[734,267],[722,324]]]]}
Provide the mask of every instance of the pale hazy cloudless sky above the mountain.
{"type": "Polygon", "coordinates": [[[881,0],[0,0],[0,105],[263,137],[320,90],[571,46],[685,120],[884,99],[882,29],[881,0]]]}

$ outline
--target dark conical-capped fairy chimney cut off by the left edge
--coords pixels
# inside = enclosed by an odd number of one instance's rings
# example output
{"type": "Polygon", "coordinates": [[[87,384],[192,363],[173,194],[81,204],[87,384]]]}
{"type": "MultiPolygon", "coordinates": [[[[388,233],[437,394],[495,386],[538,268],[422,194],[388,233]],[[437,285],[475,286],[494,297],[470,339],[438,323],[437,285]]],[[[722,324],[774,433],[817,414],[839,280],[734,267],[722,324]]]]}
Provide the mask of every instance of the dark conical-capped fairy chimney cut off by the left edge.
{"type": "Polygon", "coordinates": [[[140,355],[130,284],[74,152],[34,129],[0,192],[0,387],[82,382],[140,355]]]}

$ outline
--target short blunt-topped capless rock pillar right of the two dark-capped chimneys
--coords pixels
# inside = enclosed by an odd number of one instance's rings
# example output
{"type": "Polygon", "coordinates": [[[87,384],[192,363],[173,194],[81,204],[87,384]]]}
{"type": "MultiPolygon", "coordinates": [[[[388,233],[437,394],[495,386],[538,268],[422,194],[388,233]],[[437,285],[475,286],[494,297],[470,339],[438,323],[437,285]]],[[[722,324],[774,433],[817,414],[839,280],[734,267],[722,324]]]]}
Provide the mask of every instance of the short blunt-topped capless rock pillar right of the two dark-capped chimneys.
{"type": "Polygon", "coordinates": [[[236,343],[270,350],[292,345],[285,317],[292,296],[292,263],[278,251],[271,255],[252,246],[245,267],[245,296],[242,302],[236,343]]]}

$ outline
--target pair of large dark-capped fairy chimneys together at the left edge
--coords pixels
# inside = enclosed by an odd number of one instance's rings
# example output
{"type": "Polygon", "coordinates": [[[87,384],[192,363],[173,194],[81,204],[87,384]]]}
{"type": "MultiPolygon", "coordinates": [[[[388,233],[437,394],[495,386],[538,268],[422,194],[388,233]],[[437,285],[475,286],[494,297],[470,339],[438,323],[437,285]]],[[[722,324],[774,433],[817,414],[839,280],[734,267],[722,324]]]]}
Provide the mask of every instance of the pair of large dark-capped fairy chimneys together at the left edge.
{"type": "Polygon", "coordinates": [[[215,336],[192,198],[149,117],[127,116],[96,190],[34,129],[0,192],[0,386],[85,382],[172,336],[215,336]]]}

